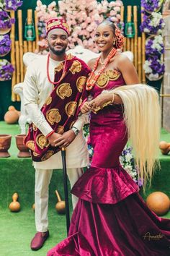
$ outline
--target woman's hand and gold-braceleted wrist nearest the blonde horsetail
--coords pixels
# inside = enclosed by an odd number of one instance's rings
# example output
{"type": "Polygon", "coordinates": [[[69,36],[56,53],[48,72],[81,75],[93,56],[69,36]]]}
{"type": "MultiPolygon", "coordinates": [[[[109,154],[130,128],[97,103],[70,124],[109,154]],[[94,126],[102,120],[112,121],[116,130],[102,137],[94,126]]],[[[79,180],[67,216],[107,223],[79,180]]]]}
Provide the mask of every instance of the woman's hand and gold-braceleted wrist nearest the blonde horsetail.
{"type": "Polygon", "coordinates": [[[104,106],[107,106],[109,103],[112,103],[112,99],[112,94],[102,93],[98,95],[97,98],[94,98],[94,100],[89,101],[89,107],[91,108],[91,111],[95,113],[100,109],[104,108],[104,106]]]}

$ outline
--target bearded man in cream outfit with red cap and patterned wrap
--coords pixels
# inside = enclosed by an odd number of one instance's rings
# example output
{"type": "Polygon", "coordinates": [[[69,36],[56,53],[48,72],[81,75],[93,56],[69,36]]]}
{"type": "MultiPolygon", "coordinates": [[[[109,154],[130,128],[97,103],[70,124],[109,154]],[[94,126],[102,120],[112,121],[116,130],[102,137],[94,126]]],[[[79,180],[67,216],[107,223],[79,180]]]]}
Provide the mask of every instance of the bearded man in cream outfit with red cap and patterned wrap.
{"type": "MultiPolygon", "coordinates": [[[[24,105],[32,120],[25,143],[31,149],[35,167],[35,226],[31,249],[37,250],[48,239],[48,186],[54,168],[62,168],[61,151],[66,148],[68,179],[71,187],[89,163],[82,127],[88,116],[78,108],[89,74],[84,61],[70,54],[68,25],[53,18],[47,22],[49,55],[40,56],[24,78],[24,105]]],[[[77,197],[72,196],[73,208],[77,197]]]]}

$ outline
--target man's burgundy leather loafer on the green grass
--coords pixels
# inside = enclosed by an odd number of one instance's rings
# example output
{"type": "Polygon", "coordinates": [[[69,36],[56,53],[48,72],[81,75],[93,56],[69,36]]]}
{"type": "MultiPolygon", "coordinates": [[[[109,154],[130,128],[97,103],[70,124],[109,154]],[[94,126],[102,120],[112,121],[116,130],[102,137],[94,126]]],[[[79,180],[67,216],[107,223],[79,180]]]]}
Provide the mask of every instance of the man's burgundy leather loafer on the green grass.
{"type": "Polygon", "coordinates": [[[45,240],[48,239],[48,236],[49,236],[49,231],[37,232],[35,234],[35,237],[32,239],[31,249],[33,249],[34,251],[36,251],[37,249],[40,249],[43,246],[45,240]]]}

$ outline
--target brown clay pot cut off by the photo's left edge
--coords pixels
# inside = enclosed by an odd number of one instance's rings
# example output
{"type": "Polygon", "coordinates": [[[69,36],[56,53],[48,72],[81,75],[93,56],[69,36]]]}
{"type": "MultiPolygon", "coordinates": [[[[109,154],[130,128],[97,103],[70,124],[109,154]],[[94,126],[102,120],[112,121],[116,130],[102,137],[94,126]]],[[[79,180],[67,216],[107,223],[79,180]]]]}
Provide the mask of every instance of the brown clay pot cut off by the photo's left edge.
{"type": "Polygon", "coordinates": [[[9,158],[9,148],[12,142],[12,135],[0,135],[0,158],[9,158]]]}

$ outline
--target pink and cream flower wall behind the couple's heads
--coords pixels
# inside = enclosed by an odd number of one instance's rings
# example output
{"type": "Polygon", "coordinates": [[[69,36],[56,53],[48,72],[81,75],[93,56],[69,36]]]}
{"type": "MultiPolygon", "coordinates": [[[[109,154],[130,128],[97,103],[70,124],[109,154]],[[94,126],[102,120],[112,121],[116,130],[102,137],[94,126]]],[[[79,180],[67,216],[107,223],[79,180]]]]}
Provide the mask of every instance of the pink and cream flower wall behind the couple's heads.
{"type": "Polygon", "coordinates": [[[71,27],[68,48],[80,45],[91,51],[98,52],[92,39],[97,25],[107,17],[119,24],[120,7],[122,5],[120,0],[111,2],[103,0],[100,3],[97,0],[63,0],[58,1],[58,7],[56,7],[55,1],[46,6],[42,4],[42,1],[38,0],[36,11],[41,37],[39,45],[47,48],[47,44],[43,39],[45,38],[45,21],[49,17],[62,16],[66,18],[68,25],[71,27]]]}

